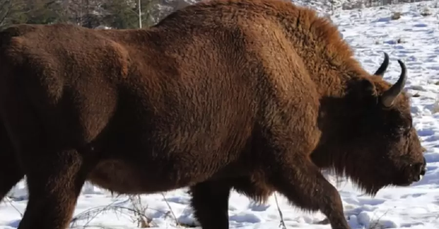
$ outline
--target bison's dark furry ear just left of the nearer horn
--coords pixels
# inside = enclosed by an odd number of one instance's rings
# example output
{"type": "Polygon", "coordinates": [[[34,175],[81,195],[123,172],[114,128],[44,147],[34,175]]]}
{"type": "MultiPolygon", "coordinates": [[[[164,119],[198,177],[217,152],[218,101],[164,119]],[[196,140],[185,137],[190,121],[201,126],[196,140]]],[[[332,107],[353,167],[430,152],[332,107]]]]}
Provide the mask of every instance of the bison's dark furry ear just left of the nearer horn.
{"type": "Polygon", "coordinates": [[[378,103],[377,88],[366,78],[356,80],[349,90],[349,97],[356,103],[376,105],[378,103]]]}

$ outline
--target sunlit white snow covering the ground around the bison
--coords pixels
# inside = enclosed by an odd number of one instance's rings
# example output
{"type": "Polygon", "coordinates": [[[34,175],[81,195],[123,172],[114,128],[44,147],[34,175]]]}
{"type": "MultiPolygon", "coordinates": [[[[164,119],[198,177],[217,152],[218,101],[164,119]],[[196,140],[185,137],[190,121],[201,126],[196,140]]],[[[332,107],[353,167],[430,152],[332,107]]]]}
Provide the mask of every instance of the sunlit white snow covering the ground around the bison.
{"type": "MultiPolygon", "coordinates": [[[[400,73],[396,60],[400,58],[405,62],[408,68],[407,90],[415,95],[412,97],[414,125],[427,149],[428,171],[422,180],[410,187],[385,188],[375,197],[359,192],[350,181],[337,182],[332,175],[327,175],[340,192],[352,229],[439,228],[439,10],[436,5],[436,2],[428,1],[336,11],[332,17],[367,71],[372,73],[376,70],[383,59],[382,51],[385,51],[390,56],[385,78],[395,82],[400,73]],[[425,5],[432,15],[420,15],[425,5]],[[401,12],[401,18],[391,20],[392,12],[401,12]]],[[[141,204],[146,209],[144,214],[151,219],[151,226],[175,228],[173,215],[181,223],[194,224],[194,215],[189,207],[190,196],[185,191],[180,189],[164,195],[141,196],[141,204]]],[[[320,212],[303,212],[290,206],[283,196],[278,194],[277,198],[288,229],[330,229],[329,225],[316,224],[324,219],[320,212]]],[[[0,229],[18,227],[26,202],[27,191],[24,183],[20,182],[11,191],[10,198],[0,204],[0,229]]],[[[271,196],[266,205],[257,205],[232,192],[229,203],[232,229],[279,228],[275,196],[271,196]]],[[[132,208],[132,201],[127,196],[113,196],[108,191],[86,184],[74,213],[75,217],[80,217],[71,227],[87,225],[95,229],[134,229],[138,227],[135,214],[126,210],[132,208]],[[105,206],[110,206],[109,210],[95,216],[81,214],[105,206]]]]}

